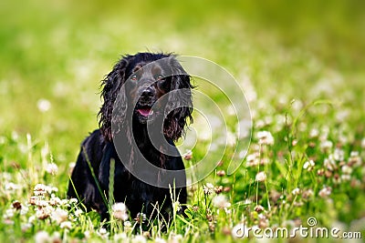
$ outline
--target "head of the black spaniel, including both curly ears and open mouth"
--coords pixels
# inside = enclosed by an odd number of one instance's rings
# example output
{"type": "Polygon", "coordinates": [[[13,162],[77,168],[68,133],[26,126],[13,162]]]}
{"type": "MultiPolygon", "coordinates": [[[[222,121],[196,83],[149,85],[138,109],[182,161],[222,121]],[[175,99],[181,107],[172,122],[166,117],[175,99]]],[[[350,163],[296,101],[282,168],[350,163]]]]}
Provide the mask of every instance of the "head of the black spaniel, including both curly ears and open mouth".
{"type": "Polygon", "coordinates": [[[144,126],[162,117],[164,136],[178,139],[187,118],[192,120],[190,81],[172,54],[123,56],[102,83],[99,126],[104,137],[112,139],[112,124],[121,130],[130,120],[144,126]]]}

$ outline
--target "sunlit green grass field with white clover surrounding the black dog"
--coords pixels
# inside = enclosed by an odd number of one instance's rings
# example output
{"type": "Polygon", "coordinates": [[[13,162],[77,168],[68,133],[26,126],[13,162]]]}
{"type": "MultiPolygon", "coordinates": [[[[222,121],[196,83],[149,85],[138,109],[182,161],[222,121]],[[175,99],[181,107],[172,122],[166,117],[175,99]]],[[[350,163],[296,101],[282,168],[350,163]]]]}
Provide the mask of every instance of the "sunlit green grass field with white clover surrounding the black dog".
{"type": "MultiPolygon", "coordinates": [[[[338,242],[347,233],[363,242],[364,7],[360,1],[2,1],[0,241],[255,242],[259,229],[262,236],[317,227],[339,229],[338,242]],[[223,163],[189,187],[188,217],[172,218],[166,232],[159,222],[144,230],[139,220],[118,217],[105,231],[95,212],[65,199],[70,167],[80,142],[98,127],[99,81],[121,55],[147,50],[223,66],[245,90],[253,137],[233,175],[226,173],[228,147],[223,163]],[[239,238],[244,233],[249,238],[239,238]]],[[[235,126],[228,121],[228,129],[235,126]]],[[[193,127],[197,143],[186,166],[208,146],[199,118],[193,127]]]]}

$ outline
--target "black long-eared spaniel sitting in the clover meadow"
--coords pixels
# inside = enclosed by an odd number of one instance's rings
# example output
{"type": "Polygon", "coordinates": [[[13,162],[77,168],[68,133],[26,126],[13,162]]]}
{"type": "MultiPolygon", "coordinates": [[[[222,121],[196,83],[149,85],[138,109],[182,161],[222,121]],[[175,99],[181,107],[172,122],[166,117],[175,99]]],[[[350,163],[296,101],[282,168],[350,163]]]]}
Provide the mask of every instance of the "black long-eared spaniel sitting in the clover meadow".
{"type": "Polygon", "coordinates": [[[180,178],[165,175],[184,169],[173,141],[183,136],[187,120],[193,121],[192,88],[191,77],[172,54],[123,56],[102,81],[99,129],[81,145],[68,197],[108,219],[111,198],[105,196],[114,160],[113,199],[126,204],[131,218],[140,212],[151,216],[156,205],[168,218],[171,194],[186,204],[184,172],[180,178]],[[154,173],[143,165],[165,170],[154,173]],[[173,187],[177,179],[180,187],[173,187]]]}

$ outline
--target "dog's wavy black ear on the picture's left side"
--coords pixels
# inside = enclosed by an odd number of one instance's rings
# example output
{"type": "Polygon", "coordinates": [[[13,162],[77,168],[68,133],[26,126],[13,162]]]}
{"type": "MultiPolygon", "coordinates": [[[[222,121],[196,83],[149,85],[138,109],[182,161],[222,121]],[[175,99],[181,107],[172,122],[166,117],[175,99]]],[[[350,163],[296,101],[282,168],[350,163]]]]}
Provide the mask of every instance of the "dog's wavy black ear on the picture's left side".
{"type": "Polygon", "coordinates": [[[123,118],[127,109],[126,96],[124,96],[124,93],[120,94],[120,92],[123,91],[121,88],[124,88],[123,85],[126,79],[126,68],[128,64],[128,56],[122,58],[113,67],[110,74],[101,81],[101,97],[103,99],[103,104],[101,105],[98,114],[99,128],[107,141],[112,140],[111,123],[119,124],[118,122],[125,120],[123,118]],[[118,106],[118,110],[114,111],[118,112],[118,114],[115,114],[114,118],[112,118],[114,106],[118,106]],[[118,121],[115,121],[115,119],[118,119],[118,121]]]}

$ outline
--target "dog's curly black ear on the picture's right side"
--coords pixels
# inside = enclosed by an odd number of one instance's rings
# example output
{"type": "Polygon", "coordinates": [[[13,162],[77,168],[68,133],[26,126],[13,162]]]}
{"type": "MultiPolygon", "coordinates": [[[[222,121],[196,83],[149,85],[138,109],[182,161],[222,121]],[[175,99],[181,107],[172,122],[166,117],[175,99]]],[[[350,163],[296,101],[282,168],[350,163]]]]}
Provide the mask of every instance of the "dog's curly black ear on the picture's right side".
{"type": "Polygon", "coordinates": [[[177,140],[183,136],[184,127],[187,120],[193,122],[193,100],[191,76],[183,67],[172,59],[172,86],[168,94],[166,111],[170,113],[166,116],[163,124],[164,135],[172,140],[177,140]],[[176,107],[176,108],[175,108],[176,107]]]}

